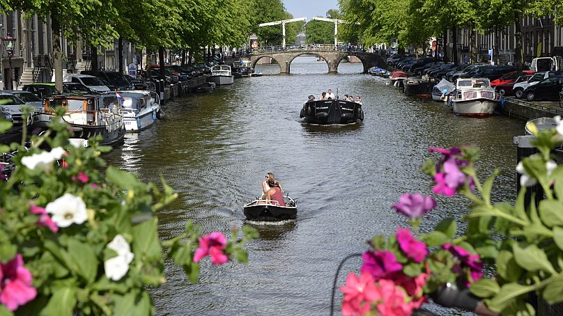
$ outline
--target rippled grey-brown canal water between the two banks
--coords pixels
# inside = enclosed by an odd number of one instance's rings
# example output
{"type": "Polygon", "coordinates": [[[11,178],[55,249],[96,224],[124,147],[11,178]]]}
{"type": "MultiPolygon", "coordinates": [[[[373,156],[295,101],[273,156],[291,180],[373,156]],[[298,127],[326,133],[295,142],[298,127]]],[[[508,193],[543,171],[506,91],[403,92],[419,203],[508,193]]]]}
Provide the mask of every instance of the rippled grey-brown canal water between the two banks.
{"type": "MultiPolygon", "coordinates": [[[[367,249],[373,235],[407,225],[390,209],[402,193],[431,193],[431,179],[419,170],[425,159],[438,159],[430,146],[478,145],[479,174],[500,168],[494,199],[514,200],[512,137],[523,134],[523,121],[454,116],[444,104],[406,97],[361,74],[360,63],[341,63],[338,74],[327,74],[325,62],[300,57],[292,74],[273,74],[277,65],[259,70],[267,75],[167,103],[165,120],[128,134],[123,148],[107,156],[143,181],[160,182],[162,175],[178,191],[178,200],[158,214],[162,238],[180,234],[190,220],[204,233],[252,225],[261,234],[245,246],[248,264],[212,267],[203,260],[195,285],[167,262],[167,283],[151,290],[157,315],[328,315],[341,259],[367,249]],[[360,95],[364,122],[304,125],[299,112],[307,95],[329,88],[360,95]],[[297,199],[295,221],[245,223],[242,205],[259,196],[267,172],[297,199]]],[[[422,230],[468,212],[468,200],[435,198],[438,208],[422,230]]],[[[360,260],[348,260],[339,285],[359,268],[360,260]]]]}

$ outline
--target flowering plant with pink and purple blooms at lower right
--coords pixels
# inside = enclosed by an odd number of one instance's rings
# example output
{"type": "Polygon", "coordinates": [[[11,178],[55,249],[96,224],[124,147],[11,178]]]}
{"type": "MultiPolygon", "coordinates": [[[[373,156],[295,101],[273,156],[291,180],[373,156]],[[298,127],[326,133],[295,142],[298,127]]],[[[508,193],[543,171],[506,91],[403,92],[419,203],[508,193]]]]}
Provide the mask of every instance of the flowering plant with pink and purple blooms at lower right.
{"type": "Polygon", "coordinates": [[[498,170],[481,182],[476,173],[479,150],[430,148],[438,161],[426,161],[433,193],[461,194],[471,202],[468,228],[458,235],[453,219],[433,231],[418,233],[419,221],[435,200],[405,194],[392,206],[408,216],[411,230],[369,241],[360,276],[350,272],[344,292],[344,315],[410,315],[432,298],[435,303],[473,310],[480,315],[535,315],[534,297],[563,301],[563,167],[552,159],[563,141],[563,123],[539,131],[532,126],[538,152],[520,161],[522,189],[515,203],[494,203],[491,190],[498,170]],[[544,192],[538,205],[525,204],[527,187],[544,192]],[[458,236],[458,237],[456,237],[458,236]],[[493,271],[484,277],[484,267],[493,271]]]}

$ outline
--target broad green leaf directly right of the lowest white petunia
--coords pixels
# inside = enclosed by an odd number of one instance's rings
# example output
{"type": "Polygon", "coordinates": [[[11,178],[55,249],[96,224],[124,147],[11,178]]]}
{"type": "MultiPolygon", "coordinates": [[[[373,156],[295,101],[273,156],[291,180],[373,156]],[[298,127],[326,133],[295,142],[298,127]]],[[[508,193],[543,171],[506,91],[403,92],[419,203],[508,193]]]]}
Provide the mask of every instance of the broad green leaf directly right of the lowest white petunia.
{"type": "Polygon", "coordinates": [[[157,232],[157,219],[149,219],[133,226],[133,252],[135,260],[158,260],[161,254],[157,232]]]}

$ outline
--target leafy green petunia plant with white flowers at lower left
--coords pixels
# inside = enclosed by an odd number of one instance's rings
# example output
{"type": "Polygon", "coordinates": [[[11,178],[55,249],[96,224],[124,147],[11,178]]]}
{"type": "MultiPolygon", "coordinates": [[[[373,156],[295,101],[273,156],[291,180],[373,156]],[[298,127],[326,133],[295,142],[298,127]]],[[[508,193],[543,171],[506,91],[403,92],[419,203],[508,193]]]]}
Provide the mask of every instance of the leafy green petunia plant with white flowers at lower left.
{"type": "MultiPolygon", "coordinates": [[[[57,117],[63,112],[58,109],[57,117]]],[[[155,211],[171,203],[177,193],[164,180],[161,186],[145,184],[130,173],[107,167],[100,155],[109,149],[98,146],[96,139],[91,139],[90,148],[68,145],[67,126],[60,122],[52,123],[43,136],[33,136],[29,151],[11,145],[19,149],[13,159],[16,168],[8,180],[0,180],[0,262],[22,255],[37,290],[36,297],[16,312],[153,315],[146,290],[165,282],[164,260],[170,258],[192,282],[197,281],[200,268],[194,262],[194,251],[201,246],[201,235],[188,222],[185,232],[160,240],[155,211]],[[51,134],[56,136],[51,138],[51,134]],[[39,145],[64,148],[63,159],[45,160],[41,167],[29,168],[24,157],[46,154],[39,145]],[[56,217],[61,206],[52,209],[49,205],[68,196],[72,200],[61,204],[68,210],[56,217]],[[55,228],[45,226],[45,219],[55,228]],[[67,225],[62,219],[72,221],[67,225]]],[[[1,128],[6,126],[0,123],[1,128]]],[[[233,228],[231,241],[220,248],[229,260],[248,261],[242,245],[256,231],[245,227],[242,234],[239,237],[233,228]]],[[[0,315],[11,313],[0,304],[0,315]]]]}

